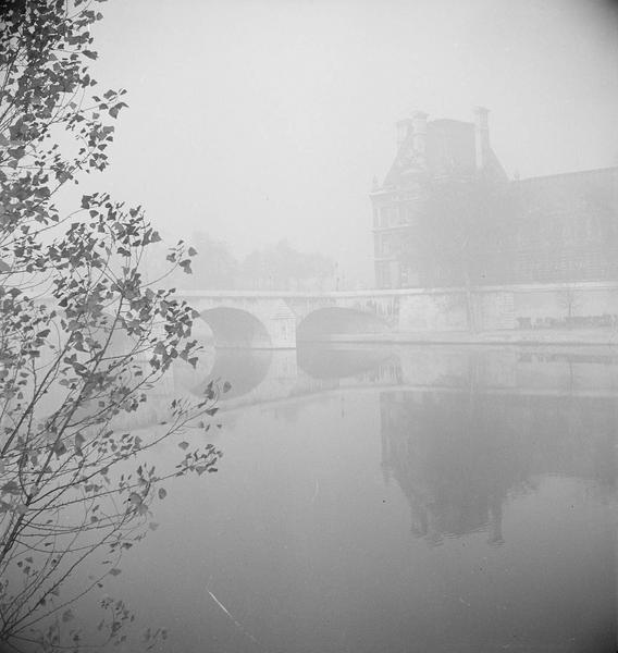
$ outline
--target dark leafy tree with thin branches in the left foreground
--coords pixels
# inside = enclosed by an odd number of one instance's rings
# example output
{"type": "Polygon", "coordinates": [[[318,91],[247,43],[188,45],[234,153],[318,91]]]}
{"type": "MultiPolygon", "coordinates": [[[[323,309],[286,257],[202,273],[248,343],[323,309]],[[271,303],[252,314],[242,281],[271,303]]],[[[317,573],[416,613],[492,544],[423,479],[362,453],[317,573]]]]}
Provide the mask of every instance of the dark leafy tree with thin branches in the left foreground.
{"type": "MultiPolygon", "coordinates": [[[[104,192],[71,211],[55,205],[108,167],[126,107],[122,89],[97,93],[88,70],[96,7],[7,0],[0,24],[0,640],[17,651],[81,649],[74,600],[119,574],[122,553],[154,527],[165,478],[213,471],[218,457],[181,442],[171,469],[143,458],[214,414],[213,385],[196,403],[174,401],[146,434],[115,428],[172,364],[195,366],[198,347],[196,312],[143,280],[160,241],[144,211],[104,192]],[[90,575],[72,578],[84,564],[90,575]]],[[[181,242],[168,262],[188,272],[191,254],[181,242]]],[[[123,638],[127,607],[101,606],[103,632],[123,638]]]]}

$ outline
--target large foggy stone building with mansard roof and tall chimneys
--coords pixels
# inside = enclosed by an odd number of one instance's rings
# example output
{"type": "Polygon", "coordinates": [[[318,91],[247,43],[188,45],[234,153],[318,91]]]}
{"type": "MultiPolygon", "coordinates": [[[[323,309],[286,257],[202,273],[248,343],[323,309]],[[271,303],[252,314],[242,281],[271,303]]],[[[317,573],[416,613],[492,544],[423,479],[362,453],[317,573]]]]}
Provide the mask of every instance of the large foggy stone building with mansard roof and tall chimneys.
{"type": "Polygon", "coordinates": [[[376,286],[618,281],[618,168],[509,181],[487,113],[397,123],[371,193],[376,286]]]}

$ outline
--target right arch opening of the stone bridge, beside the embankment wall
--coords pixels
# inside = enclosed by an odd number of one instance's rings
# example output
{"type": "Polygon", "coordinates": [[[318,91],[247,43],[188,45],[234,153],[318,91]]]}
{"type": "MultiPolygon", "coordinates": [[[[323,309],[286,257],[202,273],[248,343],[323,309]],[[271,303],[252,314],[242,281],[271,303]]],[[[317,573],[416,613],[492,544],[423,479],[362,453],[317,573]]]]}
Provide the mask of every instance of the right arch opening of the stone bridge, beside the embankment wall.
{"type": "Polygon", "coordinates": [[[327,306],[311,311],[296,329],[297,341],[323,341],[329,336],[385,333],[388,324],[373,312],[327,306]]]}

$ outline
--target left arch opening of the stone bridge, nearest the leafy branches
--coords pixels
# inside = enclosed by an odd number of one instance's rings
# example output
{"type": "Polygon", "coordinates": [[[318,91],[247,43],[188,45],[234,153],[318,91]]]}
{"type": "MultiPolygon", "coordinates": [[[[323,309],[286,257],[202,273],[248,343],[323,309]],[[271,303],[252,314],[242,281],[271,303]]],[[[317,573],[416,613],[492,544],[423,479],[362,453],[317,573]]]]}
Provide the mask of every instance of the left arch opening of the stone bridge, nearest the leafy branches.
{"type": "Polygon", "coordinates": [[[217,307],[200,313],[212,330],[218,347],[270,348],[271,336],[254,313],[240,308],[217,307]]]}

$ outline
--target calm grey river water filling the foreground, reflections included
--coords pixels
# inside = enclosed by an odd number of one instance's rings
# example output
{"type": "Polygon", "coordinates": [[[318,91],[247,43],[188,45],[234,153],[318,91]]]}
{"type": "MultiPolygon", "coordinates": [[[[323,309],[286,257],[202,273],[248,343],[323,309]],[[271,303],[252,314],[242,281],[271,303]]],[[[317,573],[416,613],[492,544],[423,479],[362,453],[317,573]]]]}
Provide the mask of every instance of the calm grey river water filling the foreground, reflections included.
{"type": "Polygon", "coordinates": [[[616,651],[618,354],[306,346],[209,365],[174,389],[231,381],[219,472],[169,485],[111,581],[169,628],[161,650],[616,651]]]}

